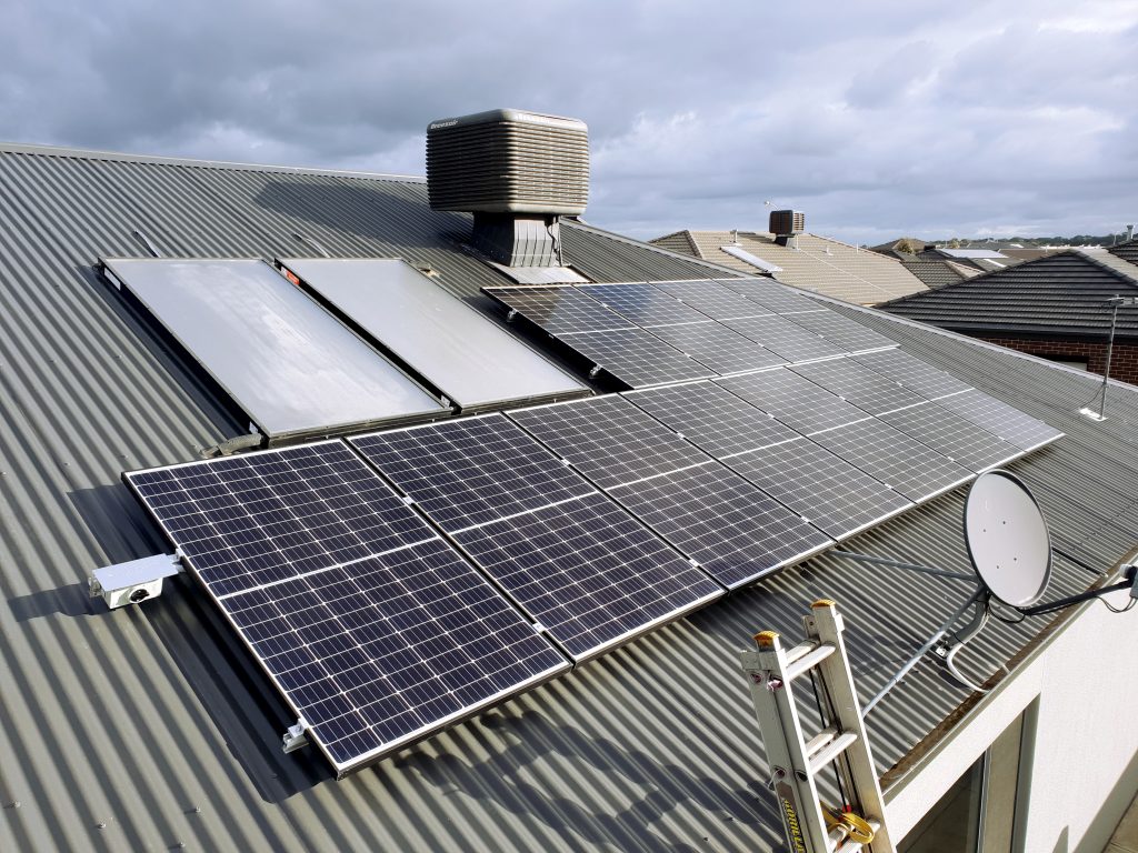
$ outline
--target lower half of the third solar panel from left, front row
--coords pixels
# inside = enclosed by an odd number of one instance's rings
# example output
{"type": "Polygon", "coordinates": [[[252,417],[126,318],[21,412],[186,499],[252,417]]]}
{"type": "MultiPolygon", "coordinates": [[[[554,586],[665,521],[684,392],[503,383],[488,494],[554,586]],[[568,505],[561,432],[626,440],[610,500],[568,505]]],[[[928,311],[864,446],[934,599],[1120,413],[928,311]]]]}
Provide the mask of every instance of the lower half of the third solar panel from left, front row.
{"type": "Polygon", "coordinates": [[[833,544],[715,462],[615,487],[609,494],[728,588],[833,544]]]}

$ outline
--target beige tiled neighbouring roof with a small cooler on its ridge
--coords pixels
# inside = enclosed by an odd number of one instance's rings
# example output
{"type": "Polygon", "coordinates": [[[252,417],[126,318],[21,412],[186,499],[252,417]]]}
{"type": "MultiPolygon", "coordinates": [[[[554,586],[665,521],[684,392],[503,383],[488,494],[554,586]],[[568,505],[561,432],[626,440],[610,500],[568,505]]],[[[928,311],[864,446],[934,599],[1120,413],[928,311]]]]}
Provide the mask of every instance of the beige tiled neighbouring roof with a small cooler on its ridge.
{"type": "Polygon", "coordinates": [[[762,232],[677,231],[651,242],[748,275],[767,272],[723,249],[724,246],[737,246],[766,264],[780,267],[774,278],[785,284],[857,305],[874,305],[926,289],[918,278],[893,259],[815,234],[799,234],[783,246],[773,234],[762,232]]]}

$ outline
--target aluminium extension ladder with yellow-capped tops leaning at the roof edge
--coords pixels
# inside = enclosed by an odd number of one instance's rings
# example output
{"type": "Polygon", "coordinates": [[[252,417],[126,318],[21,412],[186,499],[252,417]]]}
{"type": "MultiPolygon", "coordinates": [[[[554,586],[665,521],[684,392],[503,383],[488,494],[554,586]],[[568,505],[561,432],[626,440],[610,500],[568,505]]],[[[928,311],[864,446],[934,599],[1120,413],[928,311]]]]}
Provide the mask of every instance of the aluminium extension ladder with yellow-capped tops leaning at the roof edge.
{"type": "Polygon", "coordinates": [[[758,651],[742,655],[789,850],[894,853],[846,657],[842,618],[833,602],[822,599],[810,605],[803,621],[806,643],[784,649],[777,633],[762,631],[754,636],[758,651]],[[792,687],[811,670],[819,681],[815,689],[825,728],[807,740],[792,687]],[[827,809],[818,798],[816,778],[831,763],[836,763],[840,787],[852,801],[839,809],[827,809]]]}

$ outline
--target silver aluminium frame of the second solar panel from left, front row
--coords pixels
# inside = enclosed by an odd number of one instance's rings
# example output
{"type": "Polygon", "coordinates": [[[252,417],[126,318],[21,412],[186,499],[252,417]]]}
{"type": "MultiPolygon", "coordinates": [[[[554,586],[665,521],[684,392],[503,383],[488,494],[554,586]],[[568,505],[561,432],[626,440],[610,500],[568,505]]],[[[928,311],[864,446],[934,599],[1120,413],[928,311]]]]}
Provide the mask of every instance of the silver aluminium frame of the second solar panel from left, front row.
{"type": "MultiPolygon", "coordinates": [[[[570,405],[572,403],[585,403],[587,400],[595,400],[595,399],[599,399],[599,398],[597,397],[586,397],[586,398],[579,399],[579,400],[562,400],[562,401],[559,401],[559,403],[543,404],[542,406],[536,406],[535,408],[545,408],[547,406],[566,406],[566,405],[570,405]]],[[[478,420],[489,420],[489,419],[501,419],[502,421],[509,423],[511,426],[513,426],[514,429],[519,430],[527,439],[529,439],[537,447],[539,447],[544,453],[549,454],[549,456],[552,459],[555,459],[559,465],[564,465],[564,462],[562,461],[561,456],[559,456],[555,452],[551,450],[545,444],[543,444],[537,438],[535,438],[533,434],[530,434],[520,424],[518,424],[513,419],[509,417],[508,413],[503,413],[503,412],[488,412],[488,413],[484,413],[484,414],[479,414],[479,415],[471,415],[469,417],[455,419],[453,421],[447,421],[446,423],[447,424],[453,424],[453,423],[461,423],[462,421],[478,421],[478,420]]],[[[410,432],[410,431],[413,431],[413,430],[430,429],[432,425],[434,424],[411,424],[411,425],[407,425],[407,426],[397,426],[397,428],[394,428],[394,429],[381,430],[379,432],[382,433],[382,434],[389,434],[389,433],[396,433],[396,432],[410,432]]],[[[442,423],[439,425],[442,425],[442,423]]],[[[379,475],[382,478],[384,482],[387,483],[391,489],[395,490],[396,495],[398,495],[398,496],[401,496],[401,497],[403,497],[403,498],[405,498],[407,500],[415,502],[415,498],[412,495],[410,495],[397,482],[395,482],[395,480],[391,477],[389,477],[377,463],[374,463],[370,458],[368,458],[366,454],[361,448],[356,447],[355,444],[352,441],[352,439],[355,439],[355,438],[366,438],[368,436],[371,436],[371,434],[376,434],[376,432],[364,433],[364,434],[361,434],[361,436],[352,436],[347,440],[345,440],[345,444],[353,450],[353,453],[357,454],[368,465],[370,465],[373,471],[377,471],[379,473],[379,475]]],[[[498,593],[501,593],[501,595],[503,595],[506,598],[506,601],[509,601],[511,604],[513,604],[513,606],[518,611],[520,611],[526,618],[528,618],[528,619],[530,619],[531,621],[535,621],[535,622],[536,622],[537,618],[534,614],[530,613],[529,608],[525,604],[522,604],[517,598],[517,596],[514,596],[513,594],[511,594],[510,590],[506,589],[505,586],[503,586],[503,583],[501,581],[498,581],[496,578],[494,578],[490,574],[489,570],[483,568],[483,564],[478,561],[478,558],[464,545],[462,545],[459,541],[459,539],[457,539],[459,536],[461,536],[461,535],[463,535],[465,532],[469,532],[470,530],[479,530],[479,529],[483,529],[483,528],[493,527],[495,524],[501,524],[501,523],[509,522],[509,521],[512,521],[512,520],[516,520],[516,519],[519,519],[519,517],[535,516],[537,513],[541,513],[541,512],[543,512],[545,510],[549,510],[551,507],[556,507],[556,506],[560,506],[560,505],[568,505],[568,504],[580,504],[582,502],[588,500],[589,498],[599,497],[599,498],[601,498],[603,500],[607,500],[608,503],[612,504],[618,511],[620,511],[621,513],[624,513],[629,520],[632,520],[638,527],[643,528],[643,530],[645,531],[645,533],[649,537],[651,537],[652,539],[657,540],[665,550],[668,550],[673,555],[675,555],[676,560],[682,561],[684,563],[684,565],[691,566],[691,562],[687,560],[687,557],[684,554],[682,554],[671,543],[669,543],[667,539],[665,539],[659,533],[657,533],[655,530],[653,530],[651,527],[649,527],[643,521],[641,521],[641,519],[637,515],[635,515],[634,513],[632,513],[628,508],[626,508],[624,506],[624,504],[621,504],[621,503],[617,502],[616,499],[613,499],[603,489],[597,488],[597,486],[592,480],[589,480],[588,478],[586,478],[576,467],[566,465],[566,470],[571,471],[572,474],[575,477],[577,477],[588,488],[588,491],[586,494],[576,495],[576,496],[572,496],[572,497],[567,497],[567,498],[563,498],[563,499],[560,499],[560,500],[555,500],[555,502],[550,502],[549,504],[538,506],[536,508],[528,508],[528,510],[516,512],[516,513],[511,513],[511,514],[508,514],[508,515],[502,515],[502,516],[498,516],[496,519],[477,522],[477,523],[473,523],[473,524],[470,524],[470,525],[467,525],[467,527],[463,527],[463,528],[457,528],[457,529],[455,529],[453,531],[447,530],[445,527],[443,527],[443,524],[440,524],[438,521],[436,521],[426,511],[421,511],[421,512],[427,517],[428,522],[436,530],[438,530],[439,535],[443,537],[443,539],[447,544],[450,544],[460,554],[462,554],[468,561],[470,561],[478,569],[478,571],[483,574],[483,577],[486,578],[486,580],[490,585],[493,585],[494,588],[497,589],[498,593]]],[[[418,502],[415,502],[415,503],[418,503],[418,502]]],[[[694,569],[694,566],[692,566],[692,568],[694,569]]],[[[702,597],[693,601],[687,606],[685,606],[683,608],[677,608],[677,610],[670,612],[666,616],[651,620],[649,622],[645,622],[642,626],[637,626],[636,628],[634,628],[634,629],[632,629],[629,631],[626,631],[626,632],[624,632],[621,635],[618,635],[618,636],[609,639],[604,644],[595,646],[594,648],[589,649],[588,653],[586,653],[586,654],[576,655],[576,654],[572,654],[572,653],[568,652],[562,646],[562,644],[552,633],[546,632],[543,636],[545,636],[546,639],[556,649],[559,649],[562,654],[564,654],[566,656],[568,656],[574,662],[574,666],[576,668],[577,665],[580,665],[582,663],[591,661],[594,657],[597,657],[600,655],[603,655],[607,652],[610,652],[610,651],[612,651],[612,649],[615,649],[615,648],[624,645],[625,643],[628,643],[629,640],[635,639],[636,637],[640,637],[640,636],[642,636],[644,633],[648,633],[649,631],[654,630],[655,628],[659,628],[660,626],[665,626],[665,624],[674,622],[674,621],[676,621],[678,619],[683,619],[684,616],[686,616],[686,615],[688,615],[691,613],[694,613],[695,611],[701,610],[702,607],[706,607],[711,602],[714,602],[714,601],[720,598],[723,595],[725,595],[726,588],[719,581],[715,580],[715,578],[712,578],[707,572],[702,572],[702,570],[699,570],[699,571],[701,572],[701,574],[703,575],[703,578],[707,580],[707,582],[709,585],[717,587],[716,591],[709,593],[708,595],[704,595],[704,596],[702,596],[702,597]]]]}

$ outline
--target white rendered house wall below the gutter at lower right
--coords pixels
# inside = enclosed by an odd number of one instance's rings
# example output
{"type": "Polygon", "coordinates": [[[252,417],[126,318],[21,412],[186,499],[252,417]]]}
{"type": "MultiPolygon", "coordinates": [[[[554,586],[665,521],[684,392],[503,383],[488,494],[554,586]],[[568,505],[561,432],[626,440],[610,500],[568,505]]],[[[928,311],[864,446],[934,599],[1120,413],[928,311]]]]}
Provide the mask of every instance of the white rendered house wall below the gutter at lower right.
{"type": "MultiPolygon", "coordinates": [[[[1112,597],[1127,601],[1125,593],[1112,597]]],[[[1115,614],[1097,602],[1082,605],[887,792],[894,842],[1038,699],[1024,727],[1016,850],[1099,853],[1138,792],[1136,633],[1138,608],[1115,614]]]]}

